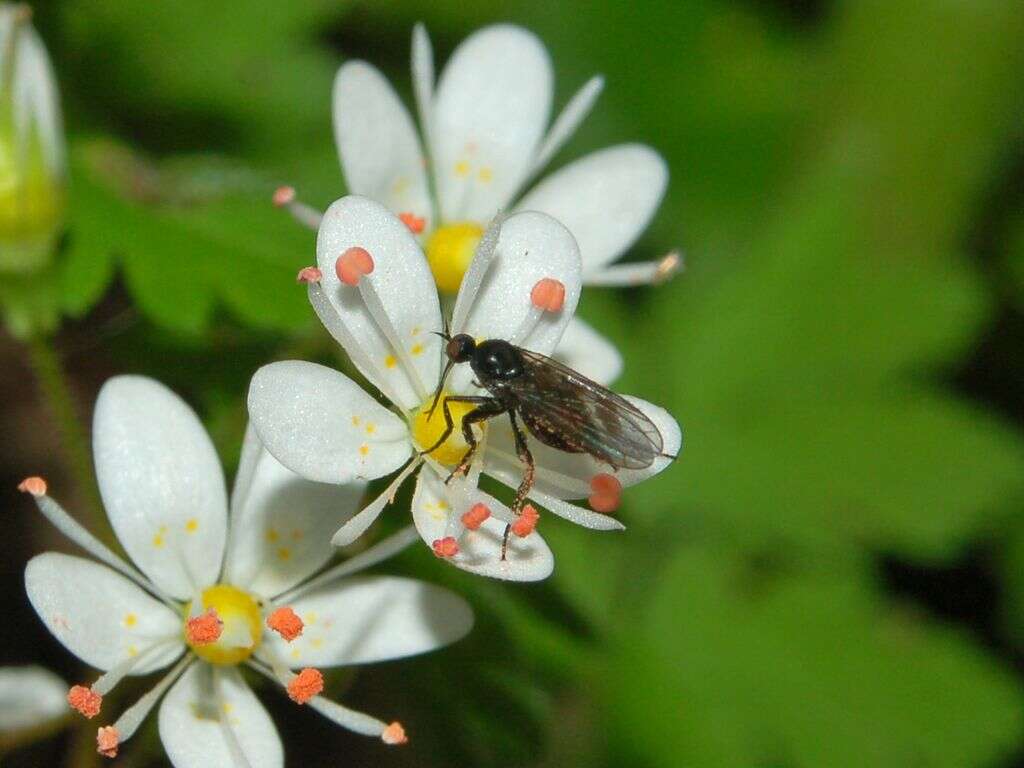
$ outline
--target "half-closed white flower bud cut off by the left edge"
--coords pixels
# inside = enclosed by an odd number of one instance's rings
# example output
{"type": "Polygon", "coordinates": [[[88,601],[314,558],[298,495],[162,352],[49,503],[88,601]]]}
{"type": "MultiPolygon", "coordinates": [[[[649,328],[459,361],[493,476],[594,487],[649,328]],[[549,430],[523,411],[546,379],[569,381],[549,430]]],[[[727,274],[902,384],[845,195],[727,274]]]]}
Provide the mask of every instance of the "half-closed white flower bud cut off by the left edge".
{"type": "Polygon", "coordinates": [[[45,263],[63,222],[60,105],[30,16],[0,3],[0,271],[45,263]]]}

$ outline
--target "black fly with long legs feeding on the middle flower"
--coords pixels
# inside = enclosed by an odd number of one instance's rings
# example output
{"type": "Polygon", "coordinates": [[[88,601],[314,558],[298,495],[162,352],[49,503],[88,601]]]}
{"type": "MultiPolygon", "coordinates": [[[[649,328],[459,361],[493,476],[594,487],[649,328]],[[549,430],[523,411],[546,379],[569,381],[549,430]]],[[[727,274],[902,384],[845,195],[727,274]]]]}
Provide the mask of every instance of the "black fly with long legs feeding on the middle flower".
{"type": "MultiPolygon", "coordinates": [[[[438,335],[447,342],[444,351],[449,361],[428,418],[433,416],[444,380],[457,364],[469,362],[476,374],[477,385],[489,392],[489,395],[449,395],[441,404],[444,431],[422,454],[437,449],[455,430],[450,402],[476,406],[462,419],[462,434],[469,450],[449,475],[449,480],[457,474],[467,473],[473,462],[477,442],[472,425],[502,414],[508,414],[512,422],[516,453],[525,467],[512,503],[515,514],[522,511],[535,474],[534,457],[519,426],[520,419],[529,433],[545,445],[570,454],[588,454],[613,469],[645,469],[659,456],[667,456],[663,453],[662,433],[640,409],[567,366],[500,339],[477,344],[467,334],[438,335]]],[[[506,525],[503,560],[509,529],[506,525]]]]}

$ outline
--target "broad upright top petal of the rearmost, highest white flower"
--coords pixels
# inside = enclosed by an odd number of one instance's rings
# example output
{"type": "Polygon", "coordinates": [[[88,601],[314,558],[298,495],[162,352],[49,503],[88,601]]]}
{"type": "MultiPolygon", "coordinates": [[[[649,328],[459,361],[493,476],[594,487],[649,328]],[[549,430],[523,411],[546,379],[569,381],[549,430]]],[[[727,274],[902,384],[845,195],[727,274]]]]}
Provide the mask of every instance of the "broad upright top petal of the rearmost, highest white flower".
{"type": "Polygon", "coordinates": [[[537,37],[496,25],[470,37],[441,73],[431,158],[445,221],[489,221],[519,188],[551,111],[551,60],[537,37]]]}

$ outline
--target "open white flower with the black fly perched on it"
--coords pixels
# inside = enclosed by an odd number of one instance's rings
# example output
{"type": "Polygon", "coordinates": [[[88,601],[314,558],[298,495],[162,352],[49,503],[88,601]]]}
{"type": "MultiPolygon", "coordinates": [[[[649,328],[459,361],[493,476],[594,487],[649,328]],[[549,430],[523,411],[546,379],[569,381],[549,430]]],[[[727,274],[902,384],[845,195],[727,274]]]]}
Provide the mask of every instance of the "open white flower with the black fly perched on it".
{"type": "MultiPolygon", "coordinates": [[[[318,268],[300,272],[313,308],[397,415],[336,371],[297,360],[274,362],[257,371],[249,391],[250,419],[267,450],[292,471],[323,482],[383,477],[404,465],[384,493],[342,525],[335,544],[348,544],[361,535],[400,483],[422,467],[413,519],[436,554],[466,570],[499,579],[546,578],[553,560],[532,530],[536,518],[532,523],[521,519],[477,488],[481,471],[513,487],[522,477],[507,419],[487,423],[481,434],[485,444],[465,479],[444,482],[467,449],[459,430],[429,457],[419,455],[444,427],[439,409],[427,418],[441,374],[440,339],[434,332],[442,322],[430,267],[412,232],[381,204],[350,196],[325,214],[316,255],[318,268]],[[503,561],[506,523],[518,525],[503,561]]],[[[580,253],[565,227],[537,212],[516,213],[504,222],[496,219],[466,272],[451,330],[477,339],[506,339],[550,354],[572,316],[580,289],[580,253]]],[[[453,370],[445,396],[479,391],[468,369],[453,370]]],[[[681,434],[675,420],[656,406],[630,399],[660,430],[665,453],[677,453],[681,434]]],[[[470,409],[453,403],[456,421],[470,409]]],[[[623,470],[612,477],[607,466],[586,455],[549,449],[536,439],[530,450],[537,482],[528,498],[557,515],[604,530],[623,525],[566,500],[589,496],[595,508],[610,511],[623,485],[639,482],[669,463],[658,458],[645,470],[623,470]]]]}

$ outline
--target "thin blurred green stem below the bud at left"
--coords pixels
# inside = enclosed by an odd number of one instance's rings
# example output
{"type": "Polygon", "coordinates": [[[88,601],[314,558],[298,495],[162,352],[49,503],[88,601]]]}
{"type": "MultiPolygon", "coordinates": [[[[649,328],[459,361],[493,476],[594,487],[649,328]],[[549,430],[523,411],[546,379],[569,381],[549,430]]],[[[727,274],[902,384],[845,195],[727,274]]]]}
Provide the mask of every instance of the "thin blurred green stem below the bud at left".
{"type": "MultiPolygon", "coordinates": [[[[106,544],[114,543],[106,515],[92,471],[92,455],[79,418],[60,355],[49,337],[36,336],[29,342],[29,359],[39,384],[39,390],[57,428],[57,437],[65,463],[71,472],[76,489],[85,503],[84,516],[92,532],[106,544]]],[[[115,545],[116,546],[116,545],[115,545]]]]}

